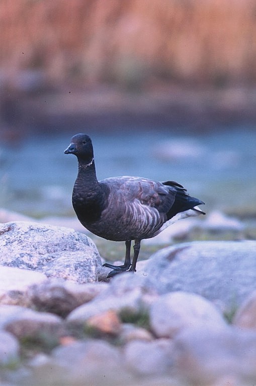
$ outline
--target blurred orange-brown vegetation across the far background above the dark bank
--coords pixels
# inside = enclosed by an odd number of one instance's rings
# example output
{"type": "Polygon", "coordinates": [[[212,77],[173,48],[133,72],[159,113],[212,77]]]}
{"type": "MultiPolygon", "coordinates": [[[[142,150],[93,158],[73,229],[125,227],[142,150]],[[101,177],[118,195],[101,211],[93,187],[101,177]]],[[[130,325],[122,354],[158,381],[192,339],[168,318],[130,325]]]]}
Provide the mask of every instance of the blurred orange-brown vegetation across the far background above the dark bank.
{"type": "Polygon", "coordinates": [[[55,84],[256,79],[256,0],[2,0],[0,71],[55,84]]]}

